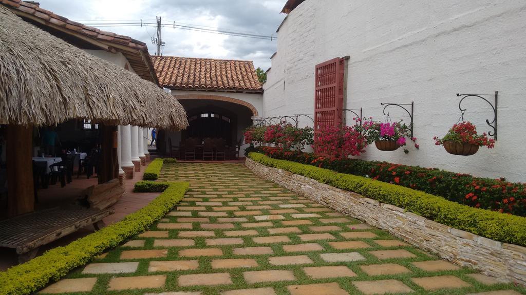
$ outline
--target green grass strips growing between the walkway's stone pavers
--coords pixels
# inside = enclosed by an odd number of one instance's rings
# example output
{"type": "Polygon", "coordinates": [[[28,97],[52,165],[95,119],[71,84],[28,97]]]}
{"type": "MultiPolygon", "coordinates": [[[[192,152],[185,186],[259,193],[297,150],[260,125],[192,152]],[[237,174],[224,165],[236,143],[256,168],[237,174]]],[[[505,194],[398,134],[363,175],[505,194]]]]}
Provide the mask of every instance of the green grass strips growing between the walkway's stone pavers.
{"type": "MultiPolygon", "coordinates": [[[[185,164],[188,165],[188,164],[185,164]]],[[[233,165],[234,166],[234,165],[233,165]]],[[[189,190],[189,193],[193,192],[200,192],[203,195],[206,195],[207,193],[214,193],[216,191],[227,191],[230,194],[237,193],[240,188],[241,182],[259,182],[259,183],[267,183],[270,184],[272,187],[278,187],[275,184],[272,184],[270,182],[261,181],[258,180],[254,175],[248,174],[250,172],[247,172],[246,168],[235,165],[236,170],[238,170],[239,173],[244,174],[244,176],[241,176],[239,178],[242,178],[243,180],[236,180],[235,182],[231,182],[230,180],[225,179],[225,185],[222,186],[228,186],[228,188],[213,188],[210,191],[210,186],[214,186],[213,184],[196,187],[196,185],[193,185],[193,188],[189,190]],[[228,183],[233,183],[231,185],[227,185],[228,183]],[[204,189],[201,191],[201,189],[204,189]]],[[[177,178],[177,174],[173,173],[173,168],[169,165],[165,165],[165,168],[163,170],[166,170],[167,172],[170,172],[169,175],[166,173],[163,176],[164,180],[175,180],[177,178]],[[166,167],[168,166],[168,167],[166,167]]],[[[232,174],[229,172],[229,169],[225,169],[226,175],[232,174]]],[[[219,173],[219,172],[217,172],[219,173]]],[[[213,182],[213,180],[210,180],[210,175],[206,173],[206,171],[199,171],[196,172],[195,175],[199,175],[197,178],[204,178],[208,179],[210,182],[213,182]]],[[[217,177],[217,176],[216,176],[217,177]]],[[[180,178],[179,178],[180,180],[180,178]]],[[[265,191],[265,188],[259,188],[255,187],[254,185],[246,186],[245,188],[242,188],[246,191],[254,191],[254,194],[259,194],[261,191],[265,191]]],[[[269,196],[262,196],[261,199],[263,201],[268,201],[270,197],[277,196],[278,193],[284,193],[287,192],[286,189],[282,189],[281,191],[278,191],[276,193],[269,194],[269,196]]],[[[225,197],[229,198],[227,195],[223,194],[217,194],[219,197],[225,197]]],[[[245,196],[250,196],[253,194],[245,194],[245,196]]],[[[188,197],[194,197],[194,195],[188,195],[188,197]]],[[[215,202],[213,197],[200,197],[203,202],[215,202]]],[[[298,197],[292,197],[294,199],[298,199],[298,197]]],[[[238,201],[239,197],[232,197],[234,201],[238,201]]],[[[188,204],[188,206],[195,206],[197,201],[188,201],[185,202],[188,204]]],[[[252,202],[253,205],[257,205],[258,201],[252,202]]],[[[287,200],[283,201],[284,204],[289,203],[287,200]]],[[[227,202],[222,202],[224,206],[228,206],[227,202]]],[[[269,205],[272,207],[272,209],[280,209],[278,205],[269,205]]],[[[240,210],[247,210],[246,205],[240,205],[238,206],[240,210]]],[[[308,206],[310,207],[310,206],[308,206]]],[[[212,212],[211,206],[206,206],[207,212],[212,212]]],[[[300,213],[304,213],[304,208],[295,208],[300,213]]],[[[263,215],[269,215],[268,212],[269,209],[261,209],[263,215]]],[[[318,213],[322,216],[322,218],[331,218],[328,217],[327,213],[318,213]]],[[[227,215],[229,217],[235,217],[234,212],[227,211],[227,215]]],[[[286,217],[286,219],[283,220],[292,220],[294,218],[291,218],[290,214],[281,214],[286,217]]],[[[198,215],[197,211],[191,212],[191,217],[201,217],[198,215]]],[[[249,220],[248,222],[256,222],[254,217],[251,216],[245,216],[249,220]]],[[[170,223],[176,223],[177,218],[175,216],[165,216],[169,220],[170,223]]],[[[217,221],[217,217],[208,217],[209,223],[215,223],[217,221]]],[[[298,227],[302,233],[301,234],[310,234],[315,233],[313,231],[310,231],[310,226],[323,226],[328,224],[323,224],[320,222],[319,217],[315,218],[304,218],[308,219],[312,222],[312,225],[296,225],[295,227],[298,227]]],[[[359,220],[353,219],[348,217],[349,223],[346,224],[358,224],[360,223],[359,220]]],[[[296,220],[296,219],[294,219],[296,220]]],[[[266,222],[266,221],[265,221],[266,222]]],[[[287,227],[281,224],[280,220],[272,220],[270,221],[273,226],[272,227],[287,227]]],[[[158,224],[158,223],[157,223],[158,224]]],[[[151,226],[151,230],[157,229],[157,224],[151,226]]],[[[200,229],[199,225],[200,223],[192,223],[193,229],[192,230],[198,230],[200,229]]],[[[242,223],[232,223],[234,224],[235,228],[233,229],[216,229],[213,230],[215,233],[215,237],[210,238],[222,238],[227,237],[224,232],[227,230],[246,230],[249,228],[241,227],[242,223]]],[[[189,246],[189,247],[170,247],[168,248],[168,256],[165,258],[150,258],[150,259],[128,259],[128,260],[122,260],[119,259],[120,254],[124,250],[138,250],[138,249],[166,249],[165,247],[153,247],[154,240],[156,238],[139,238],[135,237],[134,239],[144,239],[146,241],[144,247],[136,248],[136,247],[123,247],[119,246],[115,249],[112,249],[109,251],[108,255],[104,259],[96,259],[94,262],[122,262],[122,261],[139,261],[139,267],[136,272],[134,273],[121,273],[118,275],[84,275],[82,274],[82,268],[76,269],[74,272],[70,273],[68,275],[68,278],[85,278],[85,277],[98,277],[98,281],[93,289],[92,292],[85,293],[85,294],[144,294],[144,293],[158,293],[158,292],[167,292],[167,291],[202,291],[204,295],[219,295],[221,291],[225,290],[234,290],[234,289],[251,289],[251,288],[259,288],[259,287],[272,287],[276,291],[277,294],[289,294],[287,290],[287,286],[290,285],[304,285],[309,283],[323,283],[323,282],[337,282],[339,286],[343,289],[345,289],[349,294],[361,294],[353,285],[352,281],[366,281],[366,280],[381,280],[381,279],[397,279],[402,281],[405,285],[412,288],[415,292],[412,294],[453,294],[453,295],[461,295],[461,294],[467,294],[467,293],[476,293],[476,292],[482,292],[482,291],[490,291],[490,290],[509,290],[513,289],[516,290],[522,294],[526,294],[524,292],[524,289],[515,287],[511,284],[498,284],[494,286],[484,286],[481,283],[477,282],[476,280],[466,276],[469,273],[473,273],[473,270],[462,268],[460,270],[456,271],[438,271],[438,272],[427,272],[423,271],[417,267],[414,267],[411,265],[411,262],[415,261],[426,261],[426,260],[437,260],[437,257],[434,257],[432,255],[426,254],[425,252],[411,247],[411,246],[405,246],[405,247],[381,247],[374,243],[375,239],[396,239],[392,237],[389,233],[386,231],[382,231],[379,229],[367,229],[367,230],[351,230],[350,228],[346,228],[341,223],[333,223],[330,225],[337,225],[342,227],[341,231],[323,231],[323,233],[327,232],[335,236],[336,240],[315,240],[315,241],[300,241],[297,234],[276,234],[276,235],[270,235],[266,228],[250,228],[255,229],[258,232],[257,236],[248,236],[248,237],[241,237],[244,240],[244,244],[242,245],[229,245],[229,246],[206,246],[205,240],[207,238],[198,237],[198,238],[192,238],[195,240],[196,245],[195,246],[189,246]],[[378,235],[378,237],[373,239],[352,239],[352,240],[361,240],[365,241],[365,243],[369,244],[371,247],[366,249],[346,249],[346,250],[338,250],[334,249],[331,246],[329,246],[328,243],[330,241],[343,241],[343,240],[349,240],[343,238],[339,233],[342,232],[354,232],[354,231],[371,231],[372,233],[375,233],[378,235]],[[290,242],[288,243],[275,243],[275,244],[258,244],[254,243],[252,241],[252,237],[264,237],[264,236],[288,236],[290,238],[290,242]],[[305,243],[318,243],[323,247],[322,251],[307,251],[307,252],[294,252],[289,253],[285,252],[282,249],[282,245],[295,245],[295,244],[305,244],[305,243]],[[254,246],[268,246],[271,247],[274,251],[274,254],[271,255],[234,255],[232,254],[233,248],[238,247],[254,247],[254,246]],[[189,249],[189,248],[220,248],[223,250],[224,255],[222,256],[215,256],[215,257],[179,257],[178,251],[181,249],[189,249]],[[405,259],[387,259],[387,260],[379,260],[375,256],[371,255],[369,251],[372,250],[380,250],[380,249],[406,249],[409,252],[416,255],[415,258],[405,258],[405,259]],[[356,261],[356,262],[337,262],[337,263],[328,263],[323,261],[319,254],[320,253],[337,253],[337,252],[359,252],[362,256],[366,258],[366,260],[363,261],[356,261]],[[291,255],[307,255],[312,261],[313,264],[308,265],[287,265],[287,266],[274,266],[270,265],[268,262],[268,257],[271,256],[291,256],[291,255]],[[213,259],[228,259],[228,258],[252,258],[255,259],[258,262],[258,267],[255,268],[237,268],[237,269],[212,269],[210,266],[210,260],[213,259]],[[199,268],[196,270],[187,270],[187,271],[165,271],[165,272],[148,272],[148,262],[149,261],[161,261],[161,260],[198,260],[199,261],[199,268]],[[400,275],[389,275],[389,276],[368,276],[365,272],[361,271],[360,265],[371,265],[371,264],[378,264],[378,263],[396,263],[402,266],[407,267],[411,270],[411,273],[407,274],[400,274],[400,275]],[[347,266],[352,271],[354,271],[357,276],[352,278],[331,278],[331,279],[311,279],[307,277],[305,272],[301,269],[303,267],[310,267],[310,266],[347,266]],[[256,284],[248,284],[244,278],[242,273],[245,271],[257,271],[257,270],[292,270],[294,272],[294,275],[296,277],[296,280],[294,281],[286,281],[286,282],[267,282],[267,283],[256,283],[256,284]],[[213,287],[204,287],[204,286],[195,286],[195,287],[179,287],[177,285],[177,278],[181,275],[187,275],[187,274],[194,274],[194,273],[219,273],[219,272],[228,272],[232,279],[231,285],[221,285],[221,286],[213,286],[213,287]],[[164,288],[158,288],[158,289],[140,289],[140,290],[125,290],[125,291],[106,291],[107,285],[109,283],[109,280],[113,277],[133,277],[133,276],[147,276],[147,275],[167,275],[166,285],[164,288]],[[453,289],[453,290],[439,290],[439,291],[425,291],[416,284],[414,284],[410,279],[414,277],[428,277],[428,276],[438,276],[438,275],[454,275],[456,277],[459,277],[465,282],[468,282],[472,285],[472,287],[469,288],[463,288],[463,289],[453,289]]],[[[164,230],[164,229],[163,229],[164,230]]],[[[204,229],[208,230],[208,229],[204,229]]],[[[185,230],[168,230],[169,231],[169,238],[178,238],[177,234],[180,231],[185,230]]],[[[72,293],[72,294],[78,294],[78,293],[72,293]]]]}

